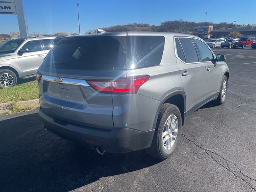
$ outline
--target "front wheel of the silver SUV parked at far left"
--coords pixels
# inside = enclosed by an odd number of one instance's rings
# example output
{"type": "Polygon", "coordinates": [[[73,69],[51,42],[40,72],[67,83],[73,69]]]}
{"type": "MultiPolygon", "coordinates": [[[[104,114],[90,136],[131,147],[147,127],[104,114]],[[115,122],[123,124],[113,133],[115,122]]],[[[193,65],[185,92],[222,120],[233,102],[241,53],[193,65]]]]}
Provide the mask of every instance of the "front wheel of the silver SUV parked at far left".
{"type": "Polygon", "coordinates": [[[13,87],[16,84],[17,76],[13,71],[8,69],[0,70],[0,88],[9,88],[13,87]]]}

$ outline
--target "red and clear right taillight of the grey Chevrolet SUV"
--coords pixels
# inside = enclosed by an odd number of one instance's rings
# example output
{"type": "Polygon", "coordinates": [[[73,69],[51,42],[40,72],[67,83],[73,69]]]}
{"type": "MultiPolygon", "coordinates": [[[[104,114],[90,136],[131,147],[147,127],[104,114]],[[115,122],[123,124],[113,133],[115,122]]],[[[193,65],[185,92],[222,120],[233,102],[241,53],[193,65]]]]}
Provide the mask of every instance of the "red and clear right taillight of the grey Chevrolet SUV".
{"type": "Polygon", "coordinates": [[[111,94],[137,93],[150,76],[135,76],[117,80],[86,80],[98,92],[111,94]]]}

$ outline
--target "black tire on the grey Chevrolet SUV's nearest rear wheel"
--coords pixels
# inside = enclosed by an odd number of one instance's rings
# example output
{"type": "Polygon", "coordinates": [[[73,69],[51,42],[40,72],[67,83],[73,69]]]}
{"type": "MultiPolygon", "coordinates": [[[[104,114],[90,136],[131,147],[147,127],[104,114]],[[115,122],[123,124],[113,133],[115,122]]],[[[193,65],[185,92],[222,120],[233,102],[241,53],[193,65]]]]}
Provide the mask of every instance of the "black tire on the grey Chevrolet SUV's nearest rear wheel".
{"type": "Polygon", "coordinates": [[[170,157],[178,144],[180,134],[181,134],[181,124],[182,124],[182,119],[181,119],[179,108],[173,104],[169,104],[169,103],[164,104],[161,107],[160,113],[158,115],[158,120],[156,123],[156,129],[154,133],[154,138],[152,140],[152,144],[150,148],[146,149],[146,152],[150,156],[153,156],[155,158],[162,159],[162,160],[170,157]],[[165,122],[167,121],[168,117],[171,115],[172,116],[174,115],[177,118],[177,123],[178,123],[178,131],[176,135],[177,137],[175,139],[173,146],[171,146],[170,149],[165,149],[164,144],[162,144],[162,141],[163,141],[162,134],[164,129],[166,129],[165,122]]]}

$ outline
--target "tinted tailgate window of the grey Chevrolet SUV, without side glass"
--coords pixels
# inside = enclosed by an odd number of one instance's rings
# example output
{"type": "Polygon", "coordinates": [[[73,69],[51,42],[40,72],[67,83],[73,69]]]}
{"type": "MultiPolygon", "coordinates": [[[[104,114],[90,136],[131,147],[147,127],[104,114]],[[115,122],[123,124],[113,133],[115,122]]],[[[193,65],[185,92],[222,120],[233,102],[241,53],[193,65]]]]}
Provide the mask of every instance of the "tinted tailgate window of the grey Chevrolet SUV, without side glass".
{"type": "Polygon", "coordinates": [[[125,68],[126,36],[64,38],[54,45],[43,66],[78,70],[125,68]]]}

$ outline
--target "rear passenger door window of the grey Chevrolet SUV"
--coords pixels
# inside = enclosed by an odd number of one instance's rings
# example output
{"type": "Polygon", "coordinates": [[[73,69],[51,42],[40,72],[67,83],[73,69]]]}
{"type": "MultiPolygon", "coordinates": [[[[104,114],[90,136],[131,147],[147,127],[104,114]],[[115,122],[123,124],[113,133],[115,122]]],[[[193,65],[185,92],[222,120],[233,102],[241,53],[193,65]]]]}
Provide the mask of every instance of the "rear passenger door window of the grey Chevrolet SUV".
{"type": "Polygon", "coordinates": [[[184,50],[185,58],[187,63],[199,62],[196,53],[196,48],[192,39],[190,38],[179,38],[181,46],[184,50]]]}

